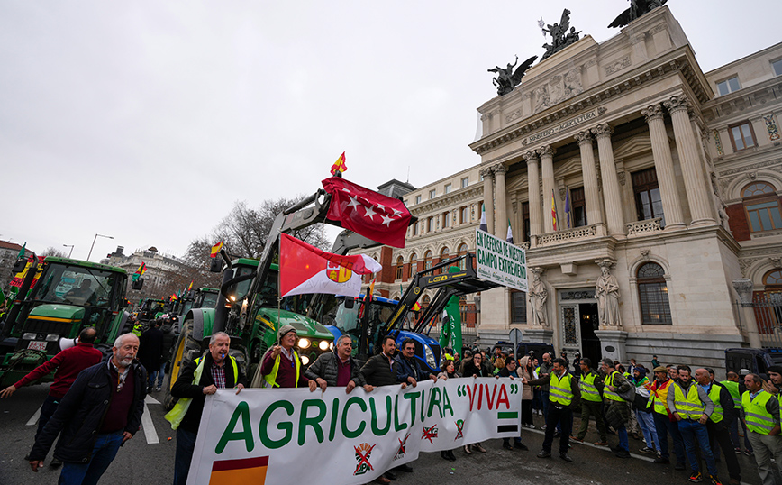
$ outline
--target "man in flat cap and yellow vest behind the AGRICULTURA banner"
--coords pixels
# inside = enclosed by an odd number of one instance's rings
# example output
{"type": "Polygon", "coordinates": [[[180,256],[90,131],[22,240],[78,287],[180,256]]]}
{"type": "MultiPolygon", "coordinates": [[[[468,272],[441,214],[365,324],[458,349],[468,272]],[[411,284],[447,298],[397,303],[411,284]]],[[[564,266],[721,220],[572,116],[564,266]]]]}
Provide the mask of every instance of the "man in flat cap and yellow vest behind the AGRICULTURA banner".
{"type": "Polygon", "coordinates": [[[298,342],[296,329],[292,325],[282,325],[277,335],[279,344],[270,348],[260,362],[260,373],[263,376],[260,385],[264,388],[317,389],[317,382],[306,378],[301,358],[294,349],[298,342]]]}

